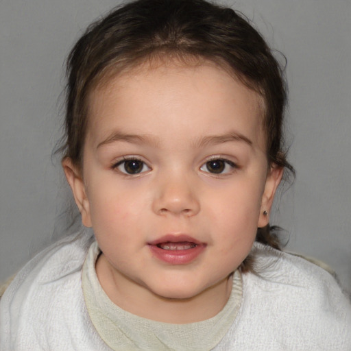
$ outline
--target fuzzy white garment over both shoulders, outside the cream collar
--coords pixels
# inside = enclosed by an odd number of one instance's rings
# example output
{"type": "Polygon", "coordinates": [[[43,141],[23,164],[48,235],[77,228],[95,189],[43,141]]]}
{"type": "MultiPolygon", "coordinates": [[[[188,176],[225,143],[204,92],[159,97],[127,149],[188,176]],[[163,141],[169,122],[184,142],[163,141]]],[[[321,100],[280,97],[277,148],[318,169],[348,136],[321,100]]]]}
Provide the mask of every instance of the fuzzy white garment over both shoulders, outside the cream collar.
{"type": "MultiPolygon", "coordinates": [[[[1,351],[111,350],[82,293],[92,242],[88,234],[65,239],[19,272],[0,300],[1,351]]],[[[255,247],[259,274],[243,274],[237,319],[213,350],[350,351],[351,306],[332,276],[303,258],[255,247]]]]}

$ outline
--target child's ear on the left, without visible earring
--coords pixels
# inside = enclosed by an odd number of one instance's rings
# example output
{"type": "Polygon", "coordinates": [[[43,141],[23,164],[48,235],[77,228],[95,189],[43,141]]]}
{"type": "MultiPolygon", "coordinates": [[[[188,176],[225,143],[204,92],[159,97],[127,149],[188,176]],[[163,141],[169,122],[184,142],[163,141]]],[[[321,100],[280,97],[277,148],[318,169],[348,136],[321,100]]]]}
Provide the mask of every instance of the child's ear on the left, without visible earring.
{"type": "Polygon", "coordinates": [[[69,157],[62,160],[62,167],[66,175],[66,180],[69,182],[69,186],[71,186],[75,204],[77,204],[80,214],[82,215],[82,223],[86,227],[91,227],[90,205],[88,197],[86,196],[86,189],[81,171],[77,166],[73,165],[69,157]]]}

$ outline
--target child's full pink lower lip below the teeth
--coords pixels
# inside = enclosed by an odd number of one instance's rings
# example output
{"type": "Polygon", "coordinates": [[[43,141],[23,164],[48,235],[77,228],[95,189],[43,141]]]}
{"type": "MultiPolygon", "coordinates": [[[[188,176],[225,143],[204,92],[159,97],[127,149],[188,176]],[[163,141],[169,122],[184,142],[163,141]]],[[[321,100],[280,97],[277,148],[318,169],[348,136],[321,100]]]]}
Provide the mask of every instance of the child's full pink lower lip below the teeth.
{"type": "Polygon", "coordinates": [[[186,250],[165,250],[157,245],[149,245],[149,248],[154,256],[163,262],[171,265],[186,265],[204,252],[206,245],[199,244],[186,250]]]}

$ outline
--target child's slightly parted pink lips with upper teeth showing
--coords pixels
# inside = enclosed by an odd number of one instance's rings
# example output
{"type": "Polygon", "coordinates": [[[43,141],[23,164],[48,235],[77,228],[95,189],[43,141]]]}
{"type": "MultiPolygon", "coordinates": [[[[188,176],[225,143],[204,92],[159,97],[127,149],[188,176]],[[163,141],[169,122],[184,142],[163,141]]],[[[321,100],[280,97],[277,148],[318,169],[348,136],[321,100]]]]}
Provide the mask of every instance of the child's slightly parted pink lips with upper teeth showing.
{"type": "Polygon", "coordinates": [[[183,234],[168,234],[148,245],[156,258],[171,265],[191,263],[206,248],[206,243],[183,234]]]}

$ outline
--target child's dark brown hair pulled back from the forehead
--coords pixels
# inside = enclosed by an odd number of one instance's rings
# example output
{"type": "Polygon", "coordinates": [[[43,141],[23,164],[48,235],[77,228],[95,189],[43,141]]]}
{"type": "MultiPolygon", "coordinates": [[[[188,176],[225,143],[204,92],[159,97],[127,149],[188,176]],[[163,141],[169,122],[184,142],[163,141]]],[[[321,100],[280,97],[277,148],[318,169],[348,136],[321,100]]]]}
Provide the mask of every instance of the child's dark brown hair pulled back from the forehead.
{"type": "MultiPolygon", "coordinates": [[[[67,61],[64,157],[81,165],[89,92],[111,74],[162,56],[215,62],[260,94],[269,165],[293,172],[282,151],[287,94],[280,64],[247,19],[205,0],[137,0],[88,27],[67,61]]],[[[269,226],[258,228],[256,240],[278,248],[269,226]]]]}

